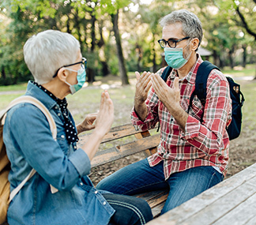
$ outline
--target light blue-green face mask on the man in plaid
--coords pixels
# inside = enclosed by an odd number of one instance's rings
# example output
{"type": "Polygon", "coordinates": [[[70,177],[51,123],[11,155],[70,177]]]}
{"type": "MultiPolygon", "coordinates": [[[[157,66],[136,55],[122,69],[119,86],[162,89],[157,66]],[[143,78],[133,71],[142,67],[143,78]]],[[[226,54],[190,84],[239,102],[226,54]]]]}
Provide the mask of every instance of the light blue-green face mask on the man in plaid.
{"type": "MultiPolygon", "coordinates": [[[[189,44],[186,47],[188,47],[188,46],[189,46],[189,44]]],[[[192,52],[190,52],[190,55],[191,55],[191,53],[192,52]]],[[[179,48],[165,47],[164,55],[165,55],[164,59],[167,62],[168,66],[171,66],[171,68],[173,68],[173,69],[182,68],[190,58],[190,55],[186,59],[183,58],[183,48],[182,47],[179,47],[179,48]]]]}

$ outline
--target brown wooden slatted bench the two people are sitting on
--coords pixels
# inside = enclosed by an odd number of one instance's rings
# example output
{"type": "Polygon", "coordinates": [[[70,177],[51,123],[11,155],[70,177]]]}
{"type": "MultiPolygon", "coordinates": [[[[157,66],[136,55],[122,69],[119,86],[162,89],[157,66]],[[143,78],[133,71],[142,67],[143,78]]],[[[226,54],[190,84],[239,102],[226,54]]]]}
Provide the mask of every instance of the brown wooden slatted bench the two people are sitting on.
{"type": "MultiPolygon", "coordinates": [[[[138,152],[144,152],[145,157],[151,156],[156,152],[156,146],[160,143],[160,133],[151,135],[149,131],[141,132],[136,131],[134,126],[129,123],[122,126],[116,126],[111,128],[109,133],[104,137],[101,144],[107,142],[115,142],[121,138],[126,138],[125,143],[121,141],[121,144],[115,144],[114,147],[101,150],[96,153],[96,156],[92,159],[92,167],[111,163],[117,159],[122,159],[126,156],[134,155],[138,152]],[[134,137],[130,140],[127,137],[134,137]],[[127,141],[128,140],[128,141],[127,141]]],[[[85,143],[89,138],[88,135],[79,137],[80,144],[85,143]]],[[[152,214],[154,217],[160,215],[160,211],[164,206],[164,202],[168,197],[167,191],[152,191],[149,193],[141,193],[136,195],[145,199],[152,208],[152,214]]]]}

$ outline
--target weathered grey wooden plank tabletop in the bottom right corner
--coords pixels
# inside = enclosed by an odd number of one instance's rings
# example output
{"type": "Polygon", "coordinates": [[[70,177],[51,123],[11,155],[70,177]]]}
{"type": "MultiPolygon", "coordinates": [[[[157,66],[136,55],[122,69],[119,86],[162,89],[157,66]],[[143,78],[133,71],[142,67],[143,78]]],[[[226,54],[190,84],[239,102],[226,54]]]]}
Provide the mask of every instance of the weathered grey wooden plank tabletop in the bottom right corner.
{"type": "Polygon", "coordinates": [[[256,163],[147,224],[256,224],[256,163]]]}

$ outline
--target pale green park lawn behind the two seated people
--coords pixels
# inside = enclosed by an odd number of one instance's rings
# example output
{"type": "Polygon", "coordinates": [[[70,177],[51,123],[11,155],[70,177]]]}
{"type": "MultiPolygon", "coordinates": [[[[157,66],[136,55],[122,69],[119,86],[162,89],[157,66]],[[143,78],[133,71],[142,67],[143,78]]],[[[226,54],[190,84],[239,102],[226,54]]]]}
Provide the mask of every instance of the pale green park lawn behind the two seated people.
{"type": "MultiPolygon", "coordinates": [[[[247,66],[246,69],[224,69],[224,74],[232,74],[233,77],[254,76],[254,65],[247,66]]],[[[67,96],[69,109],[73,114],[73,118],[77,123],[85,118],[85,114],[93,113],[100,108],[100,94],[103,88],[100,84],[116,84],[116,88],[109,88],[108,92],[113,100],[115,107],[115,121],[113,126],[117,126],[126,122],[130,122],[130,110],[134,103],[135,78],[134,73],[129,73],[130,85],[120,87],[120,77],[104,77],[98,79],[98,85],[90,84],[87,88],[75,93],[73,96],[67,96]],[[108,80],[110,79],[110,80],[108,80]]],[[[256,93],[256,81],[237,81],[241,84],[241,90],[245,96],[246,102],[243,106],[243,126],[249,124],[249,129],[256,126],[256,101],[254,100],[256,93]]],[[[8,103],[21,96],[25,92],[27,84],[12,85],[0,87],[0,110],[4,109],[8,103]],[[2,92],[2,93],[1,93],[2,92]],[[9,93],[6,93],[9,92],[9,93]]]]}

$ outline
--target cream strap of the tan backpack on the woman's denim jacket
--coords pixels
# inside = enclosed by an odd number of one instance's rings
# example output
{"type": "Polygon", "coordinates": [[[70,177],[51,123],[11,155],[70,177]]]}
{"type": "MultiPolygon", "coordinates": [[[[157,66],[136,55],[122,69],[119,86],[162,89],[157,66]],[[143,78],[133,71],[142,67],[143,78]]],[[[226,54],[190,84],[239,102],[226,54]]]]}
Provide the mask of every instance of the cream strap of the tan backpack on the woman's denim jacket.
{"type": "MultiPolygon", "coordinates": [[[[21,96],[21,97],[18,97],[17,99],[14,99],[11,103],[9,103],[9,106],[6,108],[6,110],[1,112],[1,115],[0,115],[1,120],[3,117],[6,116],[6,112],[9,111],[9,109],[11,109],[12,107],[16,106],[19,103],[31,103],[34,106],[38,107],[40,109],[40,111],[42,111],[43,114],[46,116],[47,121],[49,122],[49,125],[50,125],[52,137],[56,140],[57,128],[56,128],[54,118],[52,118],[52,115],[47,110],[47,107],[45,107],[43,105],[43,103],[40,102],[40,100],[38,100],[32,96],[21,96]]],[[[15,189],[13,189],[13,191],[9,194],[9,202],[13,200],[13,197],[15,197],[15,195],[20,191],[20,189],[24,186],[24,184],[26,182],[28,182],[28,180],[30,178],[32,178],[32,176],[35,173],[36,173],[36,171],[34,169],[32,169],[32,171],[30,171],[28,176],[26,178],[24,178],[24,180],[21,182],[21,184],[18,185],[15,189]]]]}

